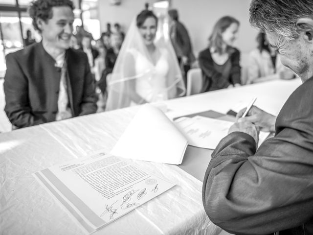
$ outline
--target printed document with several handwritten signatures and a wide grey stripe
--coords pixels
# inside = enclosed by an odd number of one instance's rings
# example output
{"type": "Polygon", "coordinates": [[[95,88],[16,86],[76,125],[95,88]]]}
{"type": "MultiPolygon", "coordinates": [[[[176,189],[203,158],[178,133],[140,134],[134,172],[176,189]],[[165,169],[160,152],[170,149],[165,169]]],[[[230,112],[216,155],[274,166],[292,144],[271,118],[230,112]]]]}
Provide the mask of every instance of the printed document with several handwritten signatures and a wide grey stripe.
{"type": "Polygon", "coordinates": [[[104,154],[33,175],[89,234],[174,186],[127,160],[104,154]]]}

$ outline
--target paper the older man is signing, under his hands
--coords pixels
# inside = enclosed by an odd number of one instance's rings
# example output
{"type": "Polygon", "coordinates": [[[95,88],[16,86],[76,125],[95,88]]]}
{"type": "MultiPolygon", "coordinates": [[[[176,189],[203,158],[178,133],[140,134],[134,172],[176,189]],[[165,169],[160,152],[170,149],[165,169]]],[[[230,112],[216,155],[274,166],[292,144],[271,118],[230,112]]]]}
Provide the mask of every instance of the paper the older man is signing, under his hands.
{"type": "MultiPolygon", "coordinates": [[[[174,123],[185,134],[189,145],[209,149],[215,149],[227,135],[229,127],[234,124],[231,121],[202,116],[181,117],[176,119],[174,123]]],[[[267,138],[268,134],[267,132],[260,132],[259,144],[267,138]]]]}

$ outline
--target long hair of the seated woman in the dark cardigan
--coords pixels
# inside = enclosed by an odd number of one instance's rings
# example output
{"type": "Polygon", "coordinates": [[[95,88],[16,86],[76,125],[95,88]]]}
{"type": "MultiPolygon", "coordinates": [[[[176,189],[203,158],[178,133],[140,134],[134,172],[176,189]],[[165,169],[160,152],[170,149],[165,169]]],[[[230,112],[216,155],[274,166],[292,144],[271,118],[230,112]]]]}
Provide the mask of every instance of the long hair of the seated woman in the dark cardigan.
{"type": "Polygon", "coordinates": [[[231,16],[224,16],[216,22],[216,24],[213,27],[213,31],[209,37],[210,48],[214,48],[216,52],[222,54],[222,45],[223,45],[222,33],[232,23],[240,25],[239,21],[231,16]]]}

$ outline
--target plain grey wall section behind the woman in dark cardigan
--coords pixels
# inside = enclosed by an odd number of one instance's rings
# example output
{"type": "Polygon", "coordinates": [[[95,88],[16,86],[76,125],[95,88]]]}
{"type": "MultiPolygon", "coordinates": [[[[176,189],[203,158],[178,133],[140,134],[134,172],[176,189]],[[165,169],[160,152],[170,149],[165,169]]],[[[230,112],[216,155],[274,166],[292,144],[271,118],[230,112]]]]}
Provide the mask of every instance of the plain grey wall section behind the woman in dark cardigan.
{"type": "Polygon", "coordinates": [[[241,24],[235,46],[243,53],[254,48],[256,30],[248,22],[249,4],[250,0],[172,0],[172,7],[179,10],[179,18],[189,30],[195,52],[207,46],[214,24],[225,15],[241,24]]]}

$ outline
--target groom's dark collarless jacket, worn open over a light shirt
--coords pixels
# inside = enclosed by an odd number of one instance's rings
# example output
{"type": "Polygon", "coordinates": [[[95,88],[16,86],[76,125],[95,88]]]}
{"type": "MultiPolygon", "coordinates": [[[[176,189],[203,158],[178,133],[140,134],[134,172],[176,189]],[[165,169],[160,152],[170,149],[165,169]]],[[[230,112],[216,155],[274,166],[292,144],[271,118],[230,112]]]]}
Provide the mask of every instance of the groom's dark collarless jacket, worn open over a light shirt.
{"type": "MultiPolygon", "coordinates": [[[[73,117],[97,110],[95,82],[87,55],[67,49],[67,94],[73,117]]],[[[6,56],[4,77],[5,113],[11,123],[27,127],[54,121],[58,112],[61,69],[42,43],[6,56]]]]}

